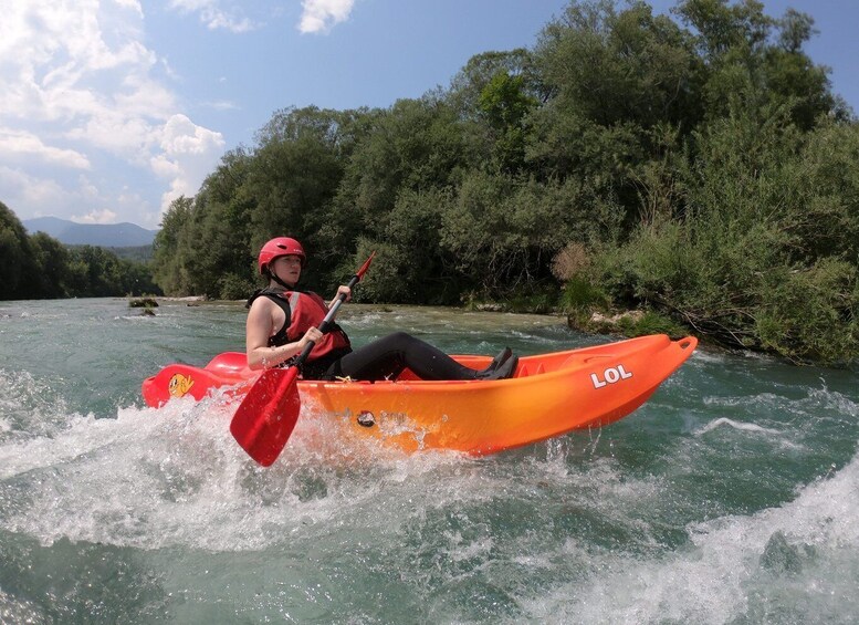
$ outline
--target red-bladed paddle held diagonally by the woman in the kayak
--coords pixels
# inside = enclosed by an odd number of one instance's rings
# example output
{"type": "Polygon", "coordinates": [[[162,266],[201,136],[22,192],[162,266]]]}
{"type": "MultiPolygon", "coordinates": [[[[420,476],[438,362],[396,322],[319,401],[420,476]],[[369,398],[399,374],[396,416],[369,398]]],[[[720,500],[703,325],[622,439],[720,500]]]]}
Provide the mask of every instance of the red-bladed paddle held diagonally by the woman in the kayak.
{"type": "MultiPolygon", "coordinates": [[[[373,252],[357,273],[352,277],[348,283],[349,289],[353,289],[360,281],[375,256],[376,252],[373,252]]],[[[345,300],[345,293],[337,295],[319,324],[321,332],[328,331],[334,315],[337,314],[337,310],[345,300]]],[[[233,438],[251,458],[263,467],[270,466],[277,459],[298,420],[301,398],[295,381],[304,361],[313,350],[313,341],[307,343],[301,355],[289,368],[268,368],[262,372],[232,418],[230,431],[233,438]]]]}

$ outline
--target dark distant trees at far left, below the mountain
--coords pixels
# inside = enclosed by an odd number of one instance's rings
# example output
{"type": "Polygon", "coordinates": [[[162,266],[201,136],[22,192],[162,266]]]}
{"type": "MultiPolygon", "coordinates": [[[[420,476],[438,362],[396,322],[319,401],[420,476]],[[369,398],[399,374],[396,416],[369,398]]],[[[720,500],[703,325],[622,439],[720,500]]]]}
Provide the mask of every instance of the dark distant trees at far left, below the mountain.
{"type": "Polygon", "coordinates": [[[0,300],[101,298],[160,293],[149,268],[92,246],[66,247],[28,235],[0,202],[0,300]]]}

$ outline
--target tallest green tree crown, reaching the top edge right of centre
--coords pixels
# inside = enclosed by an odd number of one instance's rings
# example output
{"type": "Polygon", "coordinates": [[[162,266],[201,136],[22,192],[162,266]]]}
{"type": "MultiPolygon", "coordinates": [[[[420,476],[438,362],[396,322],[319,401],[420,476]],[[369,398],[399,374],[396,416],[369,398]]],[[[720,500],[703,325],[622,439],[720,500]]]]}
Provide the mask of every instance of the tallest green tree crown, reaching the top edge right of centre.
{"type": "Polygon", "coordinates": [[[642,181],[652,188],[667,147],[682,152],[704,115],[695,40],[645,2],[619,12],[608,0],[570,2],[541,33],[533,62],[552,97],[526,119],[528,171],[546,183],[578,179],[624,207],[631,230],[642,181]]]}

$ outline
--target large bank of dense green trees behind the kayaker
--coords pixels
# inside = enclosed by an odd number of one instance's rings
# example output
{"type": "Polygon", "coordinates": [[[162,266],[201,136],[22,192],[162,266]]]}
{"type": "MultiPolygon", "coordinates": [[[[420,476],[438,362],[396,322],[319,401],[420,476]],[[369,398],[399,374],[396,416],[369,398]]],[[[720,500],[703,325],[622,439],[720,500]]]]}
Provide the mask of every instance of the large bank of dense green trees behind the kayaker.
{"type": "MultiPolygon", "coordinates": [[[[572,1],[528,50],[384,110],[276,112],[156,238],[174,295],[240,298],[273,236],[333,292],[639,309],[796,361],[859,351],[859,127],[756,0],[572,1]]],[[[6,253],[6,252],[4,252],[6,253]]],[[[652,326],[652,323],[651,323],[652,326]]]]}

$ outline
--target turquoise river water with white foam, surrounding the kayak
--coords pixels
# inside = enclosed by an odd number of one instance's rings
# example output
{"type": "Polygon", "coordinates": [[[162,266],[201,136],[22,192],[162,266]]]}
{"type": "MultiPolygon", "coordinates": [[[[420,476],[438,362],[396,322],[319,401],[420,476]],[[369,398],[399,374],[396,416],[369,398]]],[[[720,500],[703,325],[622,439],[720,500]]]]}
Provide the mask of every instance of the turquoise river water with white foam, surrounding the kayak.
{"type": "MultiPolygon", "coordinates": [[[[355,343],[606,342],[554,317],[344,306],[355,343]]],[[[216,396],[144,407],[244,310],[0,302],[0,623],[857,623],[857,373],[699,350],[639,410],[488,458],[303,414],[269,469],[216,396]]]]}

